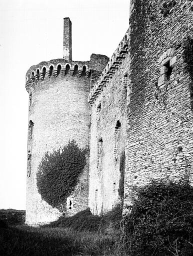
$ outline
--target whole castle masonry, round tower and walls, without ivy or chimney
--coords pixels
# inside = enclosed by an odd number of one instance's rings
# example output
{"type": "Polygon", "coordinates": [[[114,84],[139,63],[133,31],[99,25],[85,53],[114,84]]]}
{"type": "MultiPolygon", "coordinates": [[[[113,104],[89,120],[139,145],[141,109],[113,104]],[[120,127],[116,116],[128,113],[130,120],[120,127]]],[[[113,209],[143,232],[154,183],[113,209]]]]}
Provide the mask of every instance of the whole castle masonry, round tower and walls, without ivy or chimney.
{"type": "Polygon", "coordinates": [[[92,54],[90,61],[70,61],[68,74],[64,59],[27,71],[27,223],[50,222],[60,214],[41,200],[35,173],[45,151],[72,138],[88,145],[89,155],[67,199],[69,215],[87,206],[100,214],[117,203],[129,205],[133,187],[151,178],[192,178],[192,80],[183,58],[184,42],[193,36],[192,10],[190,0],[130,0],[129,28],[109,61],[92,54]]]}

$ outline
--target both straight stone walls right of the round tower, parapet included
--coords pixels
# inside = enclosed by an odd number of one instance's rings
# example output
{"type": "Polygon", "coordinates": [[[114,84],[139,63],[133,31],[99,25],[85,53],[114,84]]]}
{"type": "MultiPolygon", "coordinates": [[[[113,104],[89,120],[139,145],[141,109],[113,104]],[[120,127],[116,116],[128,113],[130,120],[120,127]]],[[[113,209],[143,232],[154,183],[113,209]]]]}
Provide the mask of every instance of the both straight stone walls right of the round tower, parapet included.
{"type": "Polygon", "coordinates": [[[192,36],[191,1],[131,1],[126,35],[124,60],[125,37],[89,94],[89,205],[95,213],[111,209],[118,199],[121,171],[113,158],[118,119],[123,134],[118,157],[125,145],[124,205],[132,203],[133,186],[192,171],[191,80],[183,60],[184,40],[192,36]]]}

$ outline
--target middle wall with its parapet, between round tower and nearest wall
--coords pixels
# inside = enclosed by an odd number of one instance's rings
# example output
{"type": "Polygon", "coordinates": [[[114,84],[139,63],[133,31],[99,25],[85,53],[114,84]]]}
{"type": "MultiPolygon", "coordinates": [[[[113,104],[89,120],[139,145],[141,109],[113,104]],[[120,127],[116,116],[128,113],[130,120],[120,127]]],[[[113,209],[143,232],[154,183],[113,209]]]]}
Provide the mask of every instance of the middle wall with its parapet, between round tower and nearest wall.
{"type": "Polygon", "coordinates": [[[89,97],[91,104],[89,207],[104,213],[121,201],[119,193],[121,154],[126,137],[126,62],[128,49],[117,49],[89,97]],[[122,54],[120,53],[122,51],[122,54]],[[105,76],[103,75],[105,73],[105,76]],[[96,93],[94,93],[96,92],[96,93]]]}

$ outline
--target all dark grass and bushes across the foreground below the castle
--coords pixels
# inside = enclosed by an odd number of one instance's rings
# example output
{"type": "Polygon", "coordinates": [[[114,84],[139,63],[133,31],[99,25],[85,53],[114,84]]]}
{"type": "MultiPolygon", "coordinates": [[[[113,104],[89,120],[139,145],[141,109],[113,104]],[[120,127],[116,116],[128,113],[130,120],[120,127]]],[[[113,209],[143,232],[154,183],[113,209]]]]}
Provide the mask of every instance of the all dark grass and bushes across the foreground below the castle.
{"type": "Polygon", "coordinates": [[[41,227],[12,225],[6,212],[7,225],[1,214],[0,255],[191,256],[193,187],[188,178],[151,180],[135,194],[123,218],[119,204],[100,216],[85,209],[41,227]]]}

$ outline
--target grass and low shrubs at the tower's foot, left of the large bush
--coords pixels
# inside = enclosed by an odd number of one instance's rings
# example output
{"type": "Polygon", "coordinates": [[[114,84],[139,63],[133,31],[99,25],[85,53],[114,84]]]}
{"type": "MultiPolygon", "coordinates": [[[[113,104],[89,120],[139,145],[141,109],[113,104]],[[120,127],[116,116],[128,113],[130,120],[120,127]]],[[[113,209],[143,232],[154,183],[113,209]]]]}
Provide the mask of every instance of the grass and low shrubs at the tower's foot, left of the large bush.
{"type": "Polygon", "coordinates": [[[105,218],[92,216],[87,209],[41,227],[23,224],[23,211],[12,211],[0,210],[0,256],[128,255],[118,230],[120,208],[105,218]]]}

